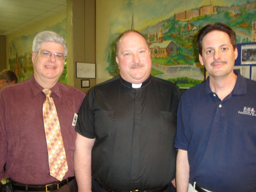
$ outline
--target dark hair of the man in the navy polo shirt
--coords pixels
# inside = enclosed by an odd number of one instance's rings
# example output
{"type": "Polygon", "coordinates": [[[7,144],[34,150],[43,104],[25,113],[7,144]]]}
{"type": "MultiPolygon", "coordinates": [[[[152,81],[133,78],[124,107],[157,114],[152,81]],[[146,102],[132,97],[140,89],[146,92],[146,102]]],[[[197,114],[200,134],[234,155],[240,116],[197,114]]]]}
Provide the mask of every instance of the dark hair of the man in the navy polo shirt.
{"type": "Polygon", "coordinates": [[[230,42],[233,45],[234,50],[236,49],[236,33],[228,27],[226,24],[216,22],[214,24],[207,24],[204,28],[200,29],[197,36],[198,52],[202,55],[202,41],[205,35],[211,31],[223,31],[227,33],[230,38],[230,42]]]}

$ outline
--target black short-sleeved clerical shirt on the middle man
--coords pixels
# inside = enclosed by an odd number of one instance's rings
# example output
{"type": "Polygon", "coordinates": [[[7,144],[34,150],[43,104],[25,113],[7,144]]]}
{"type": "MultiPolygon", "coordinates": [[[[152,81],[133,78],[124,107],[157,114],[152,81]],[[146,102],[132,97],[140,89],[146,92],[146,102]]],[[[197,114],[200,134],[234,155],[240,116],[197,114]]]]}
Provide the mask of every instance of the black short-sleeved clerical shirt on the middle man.
{"type": "Polygon", "coordinates": [[[120,76],[94,86],[76,131],[96,138],[92,176],[109,189],[157,189],[175,177],[177,86],[148,77],[141,88],[120,76]]]}

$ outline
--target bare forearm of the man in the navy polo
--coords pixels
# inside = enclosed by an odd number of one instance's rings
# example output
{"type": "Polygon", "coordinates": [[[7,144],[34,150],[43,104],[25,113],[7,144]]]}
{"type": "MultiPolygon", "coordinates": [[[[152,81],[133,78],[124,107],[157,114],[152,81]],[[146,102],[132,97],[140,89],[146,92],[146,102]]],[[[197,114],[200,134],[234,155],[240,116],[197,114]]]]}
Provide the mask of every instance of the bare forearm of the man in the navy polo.
{"type": "Polygon", "coordinates": [[[178,150],[176,163],[176,187],[177,192],[187,192],[189,183],[188,152],[178,150]]]}

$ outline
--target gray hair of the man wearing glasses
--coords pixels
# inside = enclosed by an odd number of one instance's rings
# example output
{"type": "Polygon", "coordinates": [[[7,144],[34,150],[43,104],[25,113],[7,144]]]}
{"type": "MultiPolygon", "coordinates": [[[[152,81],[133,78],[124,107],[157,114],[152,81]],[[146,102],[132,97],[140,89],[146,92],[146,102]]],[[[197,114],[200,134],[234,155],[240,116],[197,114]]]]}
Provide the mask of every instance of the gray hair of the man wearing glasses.
{"type": "Polygon", "coordinates": [[[42,31],[38,33],[33,40],[32,51],[38,52],[43,42],[55,42],[57,44],[63,45],[64,54],[65,56],[67,56],[68,54],[67,45],[65,44],[65,40],[63,39],[63,37],[60,36],[59,34],[53,31],[42,31]]]}

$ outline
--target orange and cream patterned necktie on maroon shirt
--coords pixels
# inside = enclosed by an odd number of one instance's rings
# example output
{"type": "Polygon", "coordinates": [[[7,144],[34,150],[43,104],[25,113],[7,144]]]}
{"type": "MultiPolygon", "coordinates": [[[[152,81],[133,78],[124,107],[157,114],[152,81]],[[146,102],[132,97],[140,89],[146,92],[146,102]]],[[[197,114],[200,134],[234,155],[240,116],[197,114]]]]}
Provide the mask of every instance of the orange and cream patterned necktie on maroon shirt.
{"type": "Polygon", "coordinates": [[[68,171],[68,164],[61,136],[60,122],[51,97],[51,90],[44,89],[42,92],[46,97],[43,104],[43,116],[50,175],[58,180],[63,180],[68,171]]]}

